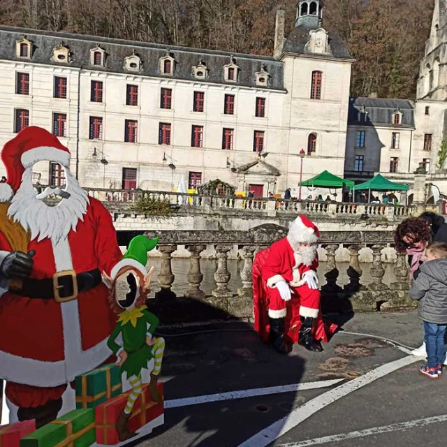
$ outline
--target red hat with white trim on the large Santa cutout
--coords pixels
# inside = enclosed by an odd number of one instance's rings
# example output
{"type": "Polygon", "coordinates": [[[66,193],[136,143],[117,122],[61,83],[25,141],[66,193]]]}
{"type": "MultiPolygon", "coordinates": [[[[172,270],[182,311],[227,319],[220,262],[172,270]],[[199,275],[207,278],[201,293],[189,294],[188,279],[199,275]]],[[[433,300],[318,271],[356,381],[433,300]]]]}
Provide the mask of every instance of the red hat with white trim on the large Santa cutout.
{"type": "Polygon", "coordinates": [[[13,197],[26,168],[46,160],[69,168],[70,158],[70,151],[52,133],[36,126],[23,129],[1,150],[7,181],[0,184],[0,202],[8,202],[13,197]]]}

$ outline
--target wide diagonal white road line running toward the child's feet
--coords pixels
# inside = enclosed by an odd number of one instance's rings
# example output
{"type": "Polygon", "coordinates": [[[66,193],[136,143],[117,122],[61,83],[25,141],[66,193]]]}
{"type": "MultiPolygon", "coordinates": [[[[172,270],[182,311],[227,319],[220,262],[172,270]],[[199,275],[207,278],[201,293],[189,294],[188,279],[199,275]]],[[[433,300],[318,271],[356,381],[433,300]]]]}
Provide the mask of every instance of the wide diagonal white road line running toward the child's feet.
{"type": "Polygon", "coordinates": [[[302,423],[307,418],[310,418],[310,416],[312,416],[317,411],[320,411],[325,406],[336,402],[342,397],[349,395],[349,393],[352,393],[353,391],[356,391],[359,388],[362,388],[363,386],[366,386],[369,383],[372,383],[377,379],[380,379],[381,377],[396,371],[397,369],[419,361],[420,358],[415,358],[413,356],[400,358],[399,360],[386,363],[385,365],[373,369],[372,371],[369,371],[356,379],[343,383],[342,385],[337,386],[332,390],[326,391],[325,393],[315,397],[312,400],[309,400],[309,402],[306,402],[304,405],[293,410],[284,418],[277,420],[269,427],[261,430],[261,432],[258,432],[250,439],[247,439],[247,441],[244,441],[238,447],[268,446],[268,444],[272,443],[283,434],[287,433],[289,430],[302,423]]]}

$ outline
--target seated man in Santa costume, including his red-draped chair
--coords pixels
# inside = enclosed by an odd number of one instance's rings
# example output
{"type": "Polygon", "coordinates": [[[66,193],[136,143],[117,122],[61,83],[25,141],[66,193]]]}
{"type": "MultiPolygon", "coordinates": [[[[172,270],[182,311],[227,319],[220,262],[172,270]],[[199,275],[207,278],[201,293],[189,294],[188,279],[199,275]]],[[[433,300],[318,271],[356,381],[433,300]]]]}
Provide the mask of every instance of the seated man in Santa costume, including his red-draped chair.
{"type": "MultiPolygon", "coordinates": [[[[309,351],[323,351],[327,341],[318,291],[318,228],[298,216],[287,237],[256,255],[254,262],[255,328],[279,353],[291,342],[309,351]],[[298,328],[298,335],[293,330],[298,328]]],[[[333,328],[332,328],[333,329],[333,328]]]]}

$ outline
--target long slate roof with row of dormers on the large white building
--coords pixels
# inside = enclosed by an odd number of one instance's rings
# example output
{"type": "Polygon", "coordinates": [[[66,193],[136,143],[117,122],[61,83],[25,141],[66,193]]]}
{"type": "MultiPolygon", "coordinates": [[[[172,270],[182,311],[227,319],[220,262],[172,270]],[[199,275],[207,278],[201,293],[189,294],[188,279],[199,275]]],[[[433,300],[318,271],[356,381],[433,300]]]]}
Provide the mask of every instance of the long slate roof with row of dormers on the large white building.
{"type": "Polygon", "coordinates": [[[173,78],[181,80],[193,80],[196,82],[211,82],[215,84],[239,85],[244,87],[256,87],[255,73],[261,71],[261,64],[265,64],[270,74],[268,88],[284,90],[284,68],[281,61],[273,57],[255,56],[252,54],[238,54],[215,50],[200,50],[197,48],[177,47],[173,45],[160,45],[137,41],[124,41],[115,38],[86,36],[82,34],[58,33],[41,31],[36,29],[24,29],[13,27],[0,27],[0,59],[11,61],[27,61],[17,58],[15,54],[15,41],[23,36],[34,44],[32,63],[52,66],[72,66],[107,73],[126,73],[129,75],[153,76],[157,78],[173,78]],[[52,50],[64,42],[72,53],[71,63],[58,64],[51,61],[52,50]],[[105,67],[91,66],[89,64],[90,50],[99,45],[107,56],[105,67]],[[124,58],[131,56],[133,50],[140,56],[143,62],[142,71],[138,73],[124,70],[124,58]],[[159,70],[159,59],[166,55],[166,50],[173,53],[176,66],[174,75],[163,75],[159,70]],[[235,63],[240,68],[238,81],[226,82],[223,75],[223,66],[230,64],[230,56],[233,54],[235,63]],[[192,67],[203,59],[209,69],[209,77],[206,80],[198,80],[192,75],[192,67]]]}

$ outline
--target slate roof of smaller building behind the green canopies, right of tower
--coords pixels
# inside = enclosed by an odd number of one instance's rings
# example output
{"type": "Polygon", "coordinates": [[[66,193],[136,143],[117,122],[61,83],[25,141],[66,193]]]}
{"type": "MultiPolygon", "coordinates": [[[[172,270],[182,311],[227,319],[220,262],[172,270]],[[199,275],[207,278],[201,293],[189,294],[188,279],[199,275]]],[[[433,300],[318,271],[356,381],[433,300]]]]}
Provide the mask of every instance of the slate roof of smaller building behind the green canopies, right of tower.
{"type": "Polygon", "coordinates": [[[414,108],[408,99],[351,98],[348,124],[362,126],[393,126],[393,115],[400,110],[403,127],[414,127],[414,108]],[[367,121],[359,122],[359,114],[365,108],[367,121]]]}

